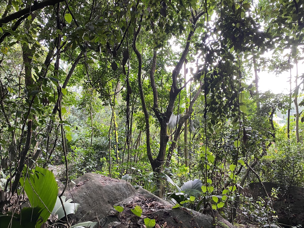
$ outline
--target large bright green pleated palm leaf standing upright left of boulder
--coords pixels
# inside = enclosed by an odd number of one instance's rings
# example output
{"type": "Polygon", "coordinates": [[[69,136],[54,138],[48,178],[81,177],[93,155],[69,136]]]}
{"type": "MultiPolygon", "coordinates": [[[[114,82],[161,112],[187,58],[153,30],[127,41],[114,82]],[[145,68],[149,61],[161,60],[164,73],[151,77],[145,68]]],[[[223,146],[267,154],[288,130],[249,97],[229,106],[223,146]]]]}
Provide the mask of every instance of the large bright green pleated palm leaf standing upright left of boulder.
{"type": "Polygon", "coordinates": [[[27,175],[26,178],[20,178],[20,185],[24,187],[31,206],[42,208],[42,219],[36,224],[36,228],[38,228],[47,221],[55,206],[58,195],[58,185],[54,174],[39,166],[36,166],[33,174],[29,174],[26,168],[23,173],[27,175]]]}

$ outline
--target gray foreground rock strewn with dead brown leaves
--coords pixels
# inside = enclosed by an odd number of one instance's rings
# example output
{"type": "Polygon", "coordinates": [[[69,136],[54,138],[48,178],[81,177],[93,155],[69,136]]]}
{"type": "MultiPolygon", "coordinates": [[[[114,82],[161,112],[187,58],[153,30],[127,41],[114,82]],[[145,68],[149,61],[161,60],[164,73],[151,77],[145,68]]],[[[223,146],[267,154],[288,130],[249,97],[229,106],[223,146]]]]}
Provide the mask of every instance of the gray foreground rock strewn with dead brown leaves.
{"type": "Polygon", "coordinates": [[[139,188],[129,198],[124,199],[116,206],[124,207],[123,212],[119,213],[112,209],[102,227],[105,228],[124,228],[124,227],[143,227],[144,218],[155,219],[155,227],[178,228],[178,227],[204,227],[214,228],[213,219],[205,214],[185,208],[172,209],[172,204],[151,194],[143,188],[139,188]],[[143,210],[141,218],[135,216],[131,209],[140,206],[143,210]]]}

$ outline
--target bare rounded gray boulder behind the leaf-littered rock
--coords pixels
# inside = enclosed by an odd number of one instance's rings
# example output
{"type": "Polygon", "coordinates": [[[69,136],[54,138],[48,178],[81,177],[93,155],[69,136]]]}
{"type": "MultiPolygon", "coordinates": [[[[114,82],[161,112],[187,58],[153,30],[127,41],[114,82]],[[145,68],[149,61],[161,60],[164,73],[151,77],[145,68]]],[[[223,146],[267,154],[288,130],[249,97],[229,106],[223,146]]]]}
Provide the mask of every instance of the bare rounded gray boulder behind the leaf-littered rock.
{"type": "Polygon", "coordinates": [[[113,208],[113,205],[128,198],[135,188],[125,180],[105,177],[101,174],[86,173],[71,183],[64,195],[79,203],[75,221],[97,221],[113,208]]]}

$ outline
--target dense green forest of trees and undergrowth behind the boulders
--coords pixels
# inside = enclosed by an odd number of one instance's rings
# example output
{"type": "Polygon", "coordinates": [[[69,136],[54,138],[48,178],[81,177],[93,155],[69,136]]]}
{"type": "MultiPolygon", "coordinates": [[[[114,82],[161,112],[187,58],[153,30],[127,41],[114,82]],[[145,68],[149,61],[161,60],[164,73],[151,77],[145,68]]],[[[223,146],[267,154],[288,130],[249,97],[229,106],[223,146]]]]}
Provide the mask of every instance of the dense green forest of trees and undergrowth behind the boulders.
{"type": "MultiPolygon", "coordinates": [[[[211,202],[232,222],[247,210],[247,183],[303,186],[303,8],[296,0],[2,1],[0,212],[16,208],[22,183],[50,164],[64,164],[65,186],[94,171],[161,197],[175,191],[165,175],[176,186],[200,179],[201,191],[179,206],[211,202]],[[289,71],[295,88],[260,92],[260,68],[289,71]],[[284,127],[274,121],[281,111],[284,127]]],[[[248,211],[271,214],[265,205],[248,211]]]]}

